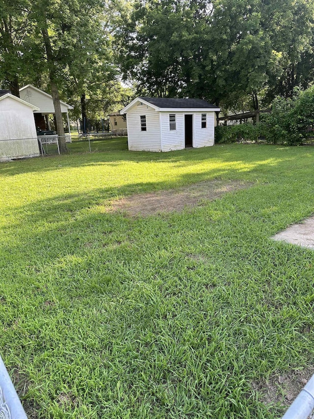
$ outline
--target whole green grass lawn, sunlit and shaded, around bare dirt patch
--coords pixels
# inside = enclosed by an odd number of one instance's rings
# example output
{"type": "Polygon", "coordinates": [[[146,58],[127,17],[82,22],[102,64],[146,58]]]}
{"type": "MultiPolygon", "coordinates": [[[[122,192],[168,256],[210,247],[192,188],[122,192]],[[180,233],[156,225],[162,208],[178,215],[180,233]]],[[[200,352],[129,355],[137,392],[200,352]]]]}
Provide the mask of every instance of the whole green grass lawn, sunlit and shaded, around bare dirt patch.
{"type": "Polygon", "coordinates": [[[0,164],[0,351],[29,418],[280,416],[254,388],[313,364],[314,253],[269,237],[314,212],[314,148],[124,146],[0,164]],[[106,211],[210,179],[252,186],[106,211]]]}

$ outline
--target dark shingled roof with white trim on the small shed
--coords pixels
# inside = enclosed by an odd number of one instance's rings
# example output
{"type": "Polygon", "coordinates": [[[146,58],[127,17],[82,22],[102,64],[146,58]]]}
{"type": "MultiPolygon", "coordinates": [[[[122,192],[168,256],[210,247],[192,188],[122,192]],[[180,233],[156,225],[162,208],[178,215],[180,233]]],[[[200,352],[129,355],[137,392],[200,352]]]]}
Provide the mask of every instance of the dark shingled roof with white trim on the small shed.
{"type": "Polygon", "coordinates": [[[137,102],[148,105],[155,111],[220,111],[216,105],[212,105],[202,99],[179,99],[179,98],[157,98],[157,97],[143,97],[138,96],[132,100],[129,105],[120,111],[120,114],[126,113],[137,102]]]}

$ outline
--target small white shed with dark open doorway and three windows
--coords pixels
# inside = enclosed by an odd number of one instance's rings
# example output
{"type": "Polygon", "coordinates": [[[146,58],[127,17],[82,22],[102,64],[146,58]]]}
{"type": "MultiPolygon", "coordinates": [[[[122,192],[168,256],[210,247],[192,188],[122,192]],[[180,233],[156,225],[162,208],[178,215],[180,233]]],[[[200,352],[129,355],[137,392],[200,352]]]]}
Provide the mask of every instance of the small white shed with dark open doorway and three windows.
{"type": "Polygon", "coordinates": [[[214,144],[215,112],[201,99],[137,97],[127,114],[129,150],[170,151],[214,144]]]}

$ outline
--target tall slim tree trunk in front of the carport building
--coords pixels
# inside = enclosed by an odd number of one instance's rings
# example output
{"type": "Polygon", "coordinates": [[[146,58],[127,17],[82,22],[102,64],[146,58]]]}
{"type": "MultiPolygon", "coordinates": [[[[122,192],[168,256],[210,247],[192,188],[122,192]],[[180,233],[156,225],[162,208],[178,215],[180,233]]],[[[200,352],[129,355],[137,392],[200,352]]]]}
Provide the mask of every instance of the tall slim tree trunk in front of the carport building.
{"type": "Polygon", "coordinates": [[[48,63],[48,67],[49,67],[49,79],[50,79],[51,95],[52,95],[53,106],[54,106],[56,128],[57,128],[57,132],[58,132],[59,148],[60,148],[60,152],[64,153],[64,152],[67,151],[67,146],[66,146],[66,142],[65,142],[65,133],[64,133],[60,99],[59,99],[59,91],[58,91],[58,87],[57,87],[57,84],[56,84],[55,64],[54,64],[52,47],[51,47],[51,42],[50,42],[50,38],[49,38],[49,34],[48,34],[46,21],[44,22],[41,31],[42,31],[42,35],[43,35],[43,40],[44,40],[46,55],[47,55],[47,63],[48,63]]]}

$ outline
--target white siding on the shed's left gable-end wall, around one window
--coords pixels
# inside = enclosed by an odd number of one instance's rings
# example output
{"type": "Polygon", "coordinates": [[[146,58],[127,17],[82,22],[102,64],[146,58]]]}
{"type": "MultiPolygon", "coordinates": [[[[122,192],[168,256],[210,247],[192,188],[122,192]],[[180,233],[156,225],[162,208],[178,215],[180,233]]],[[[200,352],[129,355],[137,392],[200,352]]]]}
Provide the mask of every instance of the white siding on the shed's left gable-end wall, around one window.
{"type": "Polygon", "coordinates": [[[159,112],[147,105],[134,105],[127,112],[128,144],[133,151],[161,151],[159,112]],[[146,116],[146,131],[141,131],[140,116],[146,116]]]}

